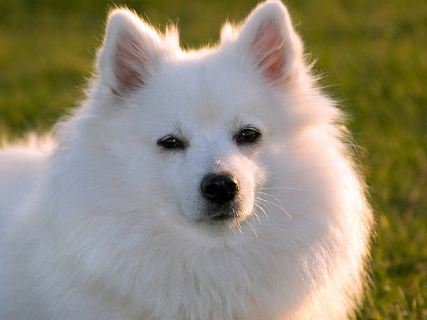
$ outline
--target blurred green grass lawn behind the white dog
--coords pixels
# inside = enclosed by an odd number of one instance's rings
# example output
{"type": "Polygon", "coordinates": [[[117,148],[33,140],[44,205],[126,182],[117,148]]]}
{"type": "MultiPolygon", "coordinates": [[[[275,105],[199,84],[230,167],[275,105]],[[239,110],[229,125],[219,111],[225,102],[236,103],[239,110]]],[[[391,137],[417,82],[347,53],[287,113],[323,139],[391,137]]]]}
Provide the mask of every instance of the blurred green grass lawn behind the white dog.
{"type": "MultiPolygon", "coordinates": [[[[106,1],[0,1],[0,135],[43,132],[82,98],[106,1]]],[[[253,0],[119,1],[183,46],[218,39],[253,0]]],[[[353,115],[350,128],[377,211],[372,292],[363,319],[427,319],[427,1],[287,0],[293,22],[353,115]]]]}

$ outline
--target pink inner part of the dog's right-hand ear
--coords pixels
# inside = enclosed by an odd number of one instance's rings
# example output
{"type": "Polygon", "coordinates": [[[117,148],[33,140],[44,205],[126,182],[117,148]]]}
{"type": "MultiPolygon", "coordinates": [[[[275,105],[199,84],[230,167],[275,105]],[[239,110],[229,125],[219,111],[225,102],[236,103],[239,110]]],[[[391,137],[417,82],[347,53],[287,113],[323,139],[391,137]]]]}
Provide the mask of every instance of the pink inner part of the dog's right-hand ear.
{"type": "Polygon", "coordinates": [[[286,59],[280,26],[274,21],[264,22],[250,43],[257,68],[269,82],[280,82],[286,59]]]}

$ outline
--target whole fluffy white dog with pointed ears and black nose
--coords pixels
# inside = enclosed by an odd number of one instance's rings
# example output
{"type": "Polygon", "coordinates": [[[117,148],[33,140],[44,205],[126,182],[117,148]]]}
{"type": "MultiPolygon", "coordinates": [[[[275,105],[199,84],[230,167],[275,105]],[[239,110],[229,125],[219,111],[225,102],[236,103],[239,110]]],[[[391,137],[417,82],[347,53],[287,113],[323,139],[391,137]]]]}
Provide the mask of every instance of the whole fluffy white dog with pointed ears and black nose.
{"type": "Polygon", "coordinates": [[[126,9],[50,155],[0,153],[0,319],[343,319],[372,213],[280,1],[179,47],[126,9]]]}

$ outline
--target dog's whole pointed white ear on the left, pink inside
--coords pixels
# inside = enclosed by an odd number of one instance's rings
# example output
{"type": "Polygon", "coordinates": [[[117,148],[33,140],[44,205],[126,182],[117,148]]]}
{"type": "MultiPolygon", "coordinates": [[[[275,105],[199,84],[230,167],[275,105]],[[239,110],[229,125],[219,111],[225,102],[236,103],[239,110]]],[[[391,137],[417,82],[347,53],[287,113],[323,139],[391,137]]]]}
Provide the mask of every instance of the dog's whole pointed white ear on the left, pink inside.
{"type": "Polygon", "coordinates": [[[97,66],[101,81],[117,96],[143,86],[161,56],[158,33],[126,9],[108,17],[97,66]]]}

